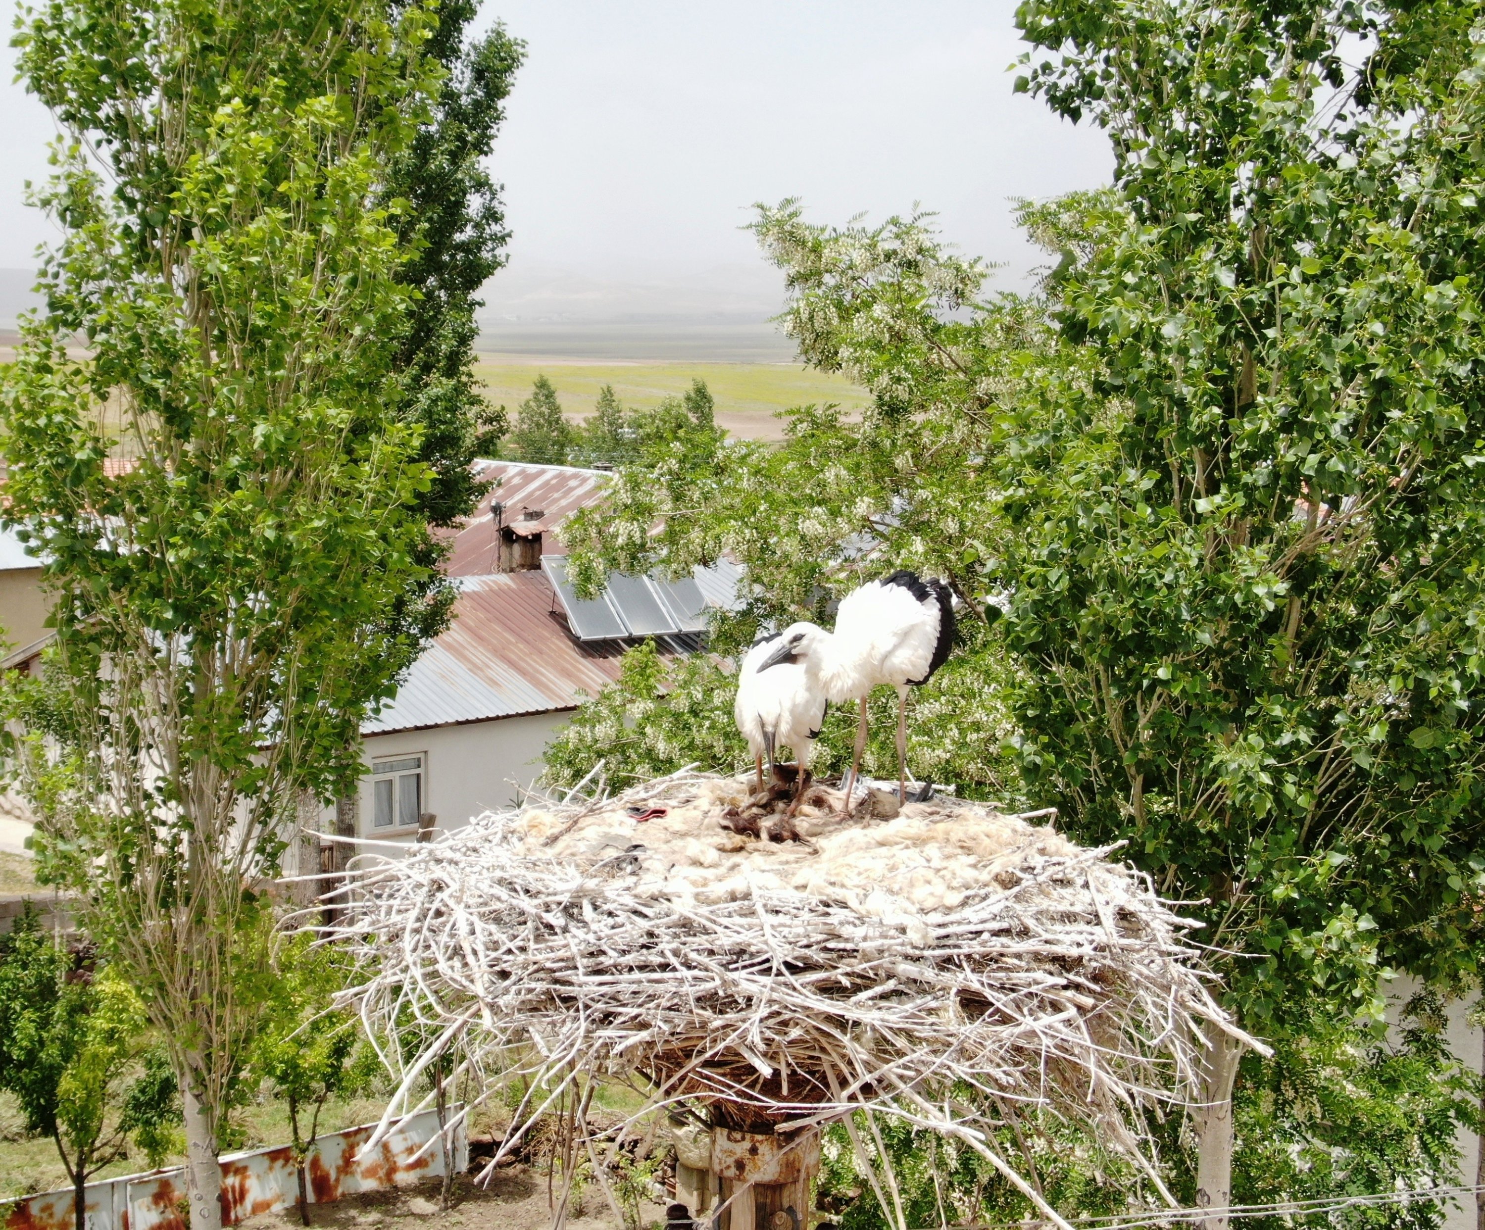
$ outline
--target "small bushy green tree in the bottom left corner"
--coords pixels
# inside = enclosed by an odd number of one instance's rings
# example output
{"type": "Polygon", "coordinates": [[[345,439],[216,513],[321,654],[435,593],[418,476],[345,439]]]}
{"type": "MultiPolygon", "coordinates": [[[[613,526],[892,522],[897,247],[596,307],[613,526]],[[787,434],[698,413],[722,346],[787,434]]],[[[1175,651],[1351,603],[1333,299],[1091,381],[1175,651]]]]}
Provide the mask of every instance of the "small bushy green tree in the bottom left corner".
{"type": "Polygon", "coordinates": [[[131,1139],[151,1165],[172,1142],[175,1084],[148,1067],[138,1073],[146,1056],[144,1006],[88,945],[62,946],[31,911],[0,936],[0,1089],[15,1095],[28,1130],[55,1142],[77,1230],[88,1179],[126,1156],[131,1139]]]}

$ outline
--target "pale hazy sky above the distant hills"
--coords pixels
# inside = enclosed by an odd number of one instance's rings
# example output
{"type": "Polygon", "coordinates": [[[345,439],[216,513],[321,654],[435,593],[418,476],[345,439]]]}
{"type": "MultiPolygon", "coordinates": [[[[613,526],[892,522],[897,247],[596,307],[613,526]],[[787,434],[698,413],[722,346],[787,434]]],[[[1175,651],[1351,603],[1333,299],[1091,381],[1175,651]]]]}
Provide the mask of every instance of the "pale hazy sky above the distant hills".
{"type": "MultiPolygon", "coordinates": [[[[754,284],[754,201],[882,218],[915,202],[961,250],[1037,257],[1008,198],[1102,183],[1103,137],[1011,94],[1013,0],[489,0],[529,45],[495,154],[512,293],[552,275],[754,284]]],[[[21,204],[50,119],[6,49],[0,267],[49,224],[21,204]]],[[[492,291],[496,291],[492,287],[492,291]]],[[[499,296],[495,296],[499,300],[499,296]]]]}

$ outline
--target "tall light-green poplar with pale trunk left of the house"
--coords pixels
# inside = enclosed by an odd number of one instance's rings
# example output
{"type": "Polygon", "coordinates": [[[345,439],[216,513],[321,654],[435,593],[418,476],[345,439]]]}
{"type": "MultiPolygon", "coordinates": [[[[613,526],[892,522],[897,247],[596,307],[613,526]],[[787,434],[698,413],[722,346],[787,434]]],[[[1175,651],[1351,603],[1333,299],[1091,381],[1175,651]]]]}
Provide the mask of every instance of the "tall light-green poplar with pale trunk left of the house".
{"type": "Polygon", "coordinates": [[[19,759],[169,1052],[198,1230],[272,988],[254,885],[443,618],[437,588],[408,602],[431,477],[388,397],[410,291],[383,195],[438,98],[435,28],[423,4],[55,0],[16,39],[64,132],[48,306],[0,397],[6,520],[58,599],[19,759]]]}

